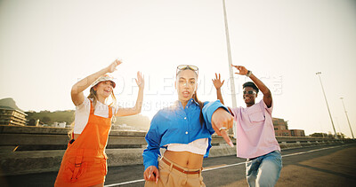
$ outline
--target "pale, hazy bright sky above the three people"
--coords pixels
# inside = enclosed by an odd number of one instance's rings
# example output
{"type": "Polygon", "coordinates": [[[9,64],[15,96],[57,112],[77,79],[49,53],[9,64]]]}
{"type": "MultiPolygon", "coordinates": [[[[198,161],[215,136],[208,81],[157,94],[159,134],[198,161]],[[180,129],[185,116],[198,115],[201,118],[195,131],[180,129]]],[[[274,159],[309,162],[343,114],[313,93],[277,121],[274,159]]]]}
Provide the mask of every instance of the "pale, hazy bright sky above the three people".
{"type": "MultiPolygon", "coordinates": [[[[356,2],[226,0],[232,64],[246,66],[271,90],[272,116],[289,129],[356,135],[356,2]]],[[[231,85],[222,0],[0,0],[0,99],[24,111],[74,110],[70,89],[116,58],[117,104],[134,105],[137,71],[145,77],[142,114],[171,105],[175,68],[199,68],[198,98],[213,101],[212,79],[231,85]]],[[[236,71],[235,71],[236,72],[236,71]]],[[[234,75],[237,105],[245,106],[234,75]]],[[[85,90],[85,95],[88,91],[85,90]]],[[[261,99],[260,94],[257,97],[261,99]]]]}

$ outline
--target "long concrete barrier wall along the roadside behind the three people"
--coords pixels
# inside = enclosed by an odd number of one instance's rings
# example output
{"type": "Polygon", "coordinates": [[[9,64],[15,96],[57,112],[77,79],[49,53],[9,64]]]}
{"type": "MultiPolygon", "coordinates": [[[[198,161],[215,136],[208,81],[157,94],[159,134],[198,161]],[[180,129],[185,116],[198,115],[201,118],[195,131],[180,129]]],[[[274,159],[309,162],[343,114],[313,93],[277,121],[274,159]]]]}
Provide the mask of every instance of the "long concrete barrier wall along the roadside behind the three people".
{"type": "MultiPolygon", "coordinates": [[[[58,171],[67,147],[69,129],[0,126],[0,175],[58,171]],[[15,150],[15,151],[14,151],[15,150]]],[[[106,153],[109,167],[142,164],[145,132],[116,131],[109,134],[106,153]]],[[[236,144],[235,139],[232,139],[236,144]]],[[[352,140],[277,136],[282,149],[321,144],[345,144],[352,140]]],[[[223,138],[213,135],[209,157],[236,155],[223,138]]]]}

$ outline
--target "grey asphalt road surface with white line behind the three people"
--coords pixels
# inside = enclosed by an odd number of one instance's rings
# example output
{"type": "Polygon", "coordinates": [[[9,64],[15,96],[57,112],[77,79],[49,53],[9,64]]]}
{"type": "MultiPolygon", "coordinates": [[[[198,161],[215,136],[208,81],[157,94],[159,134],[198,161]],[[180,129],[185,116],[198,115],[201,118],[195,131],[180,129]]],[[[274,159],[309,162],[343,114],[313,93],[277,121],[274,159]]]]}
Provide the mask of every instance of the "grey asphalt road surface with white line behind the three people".
{"type": "MultiPolygon", "coordinates": [[[[282,151],[276,186],[356,186],[356,144],[332,144],[282,151]]],[[[236,156],[206,158],[206,186],[247,186],[245,161],[236,156]]],[[[143,166],[109,168],[105,186],[143,186],[143,166]]],[[[57,172],[0,176],[0,186],[53,186],[57,172]]]]}

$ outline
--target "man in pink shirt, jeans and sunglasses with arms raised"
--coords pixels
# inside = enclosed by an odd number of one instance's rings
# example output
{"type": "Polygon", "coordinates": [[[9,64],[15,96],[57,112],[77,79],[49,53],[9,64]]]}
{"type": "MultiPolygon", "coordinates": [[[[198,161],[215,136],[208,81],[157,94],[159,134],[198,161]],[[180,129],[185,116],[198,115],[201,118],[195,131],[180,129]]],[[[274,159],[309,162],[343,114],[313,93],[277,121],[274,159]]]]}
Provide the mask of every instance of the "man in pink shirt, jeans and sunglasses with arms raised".
{"type": "MultiPolygon", "coordinates": [[[[253,82],[243,84],[243,98],[247,107],[229,108],[237,122],[237,156],[247,159],[246,177],[249,186],[274,186],[282,168],[280,147],[274,136],[272,123],[271,91],[248,71],[245,66],[234,66],[235,74],[246,75],[253,82]],[[255,103],[258,91],[263,99],[255,103]]],[[[223,103],[221,87],[223,82],[217,74],[213,80],[217,98],[223,103]]]]}

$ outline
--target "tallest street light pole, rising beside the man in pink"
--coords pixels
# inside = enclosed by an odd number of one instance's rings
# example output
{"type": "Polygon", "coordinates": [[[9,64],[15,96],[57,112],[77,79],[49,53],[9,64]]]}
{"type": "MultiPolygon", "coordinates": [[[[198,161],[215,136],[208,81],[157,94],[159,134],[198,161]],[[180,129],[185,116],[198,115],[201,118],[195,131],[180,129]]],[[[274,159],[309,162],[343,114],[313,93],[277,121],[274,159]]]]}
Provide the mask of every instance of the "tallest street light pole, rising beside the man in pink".
{"type": "Polygon", "coordinates": [[[225,33],[226,33],[226,45],[228,50],[228,59],[229,59],[229,72],[230,72],[230,85],[231,85],[231,99],[232,99],[232,107],[236,107],[236,93],[235,93],[235,82],[233,78],[233,70],[232,70],[232,58],[231,58],[231,48],[230,48],[230,36],[229,36],[229,28],[228,28],[228,19],[226,16],[226,7],[225,0],[223,0],[223,18],[225,20],[225,33]]]}

